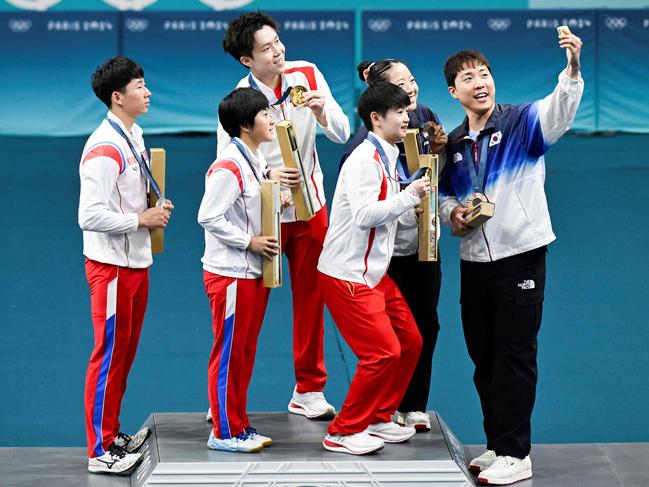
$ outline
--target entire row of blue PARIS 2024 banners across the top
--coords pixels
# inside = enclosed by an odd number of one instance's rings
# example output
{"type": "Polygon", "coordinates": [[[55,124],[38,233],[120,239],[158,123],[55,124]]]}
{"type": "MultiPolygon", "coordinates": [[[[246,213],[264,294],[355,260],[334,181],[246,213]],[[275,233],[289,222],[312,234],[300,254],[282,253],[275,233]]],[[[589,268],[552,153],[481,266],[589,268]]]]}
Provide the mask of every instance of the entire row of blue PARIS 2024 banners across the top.
{"type": "MultiPolygon", "coordinates": [[[[145,11],[0,13],[0,135],[91,132],[102,108],[89,86],[95,67],[121,53],[145,68],[159,111],[147,133],[215,130],[218,101],[245,70],[222,48],[240,12],[145,11]]],[[[361,58],[397,57],[418,78],[421,100],[449,126],[459,122],[442,75],[453,52],[479,48],[491,60],[498,99],[539,98],[565,64],[556,27],[584,40],[586,91],[574,129],[649,131],[649,11],[274,11],[288,59],[313,61],[353,117],[361,58]]]]}

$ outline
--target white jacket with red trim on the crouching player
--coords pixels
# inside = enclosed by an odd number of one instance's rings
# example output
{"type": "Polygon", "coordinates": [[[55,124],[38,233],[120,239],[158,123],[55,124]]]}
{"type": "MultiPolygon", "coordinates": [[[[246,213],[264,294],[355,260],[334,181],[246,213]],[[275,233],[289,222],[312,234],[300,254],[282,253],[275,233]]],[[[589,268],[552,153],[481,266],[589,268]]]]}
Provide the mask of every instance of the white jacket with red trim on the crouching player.
{"type": "MultiPolygon", "coordinates": [[[[374,134],[376,136],[376,134],[374,134]]],[[[414,219],[418,196],[399,191],[399,149],[376,136],[389,159],[365,140],[343,165],[318,270],[345,281],[375,287],[388,271],[400,218],[414,219]]]]}

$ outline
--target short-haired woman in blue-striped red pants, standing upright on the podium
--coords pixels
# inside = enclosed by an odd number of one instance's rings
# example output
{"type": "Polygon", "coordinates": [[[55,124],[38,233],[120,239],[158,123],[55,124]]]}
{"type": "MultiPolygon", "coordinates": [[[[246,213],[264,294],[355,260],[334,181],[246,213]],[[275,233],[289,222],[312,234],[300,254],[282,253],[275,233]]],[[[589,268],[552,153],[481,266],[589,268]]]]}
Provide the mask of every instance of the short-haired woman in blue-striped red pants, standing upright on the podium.
{"type": "Polygon", "coordinates": [[[239,88],[219,105],[219,119],[232,137],[205,176],[198,222],[205,229],[203,277],[210,299],[214,346],[208,397],[214,420],[209,448],[256,452],[272,440],[250,426],[246,397],[266,311],[262,258],[279,252],[261,233],[261,180],[266,162],[259,144],[272,140],[268,100],[239,88]]]}

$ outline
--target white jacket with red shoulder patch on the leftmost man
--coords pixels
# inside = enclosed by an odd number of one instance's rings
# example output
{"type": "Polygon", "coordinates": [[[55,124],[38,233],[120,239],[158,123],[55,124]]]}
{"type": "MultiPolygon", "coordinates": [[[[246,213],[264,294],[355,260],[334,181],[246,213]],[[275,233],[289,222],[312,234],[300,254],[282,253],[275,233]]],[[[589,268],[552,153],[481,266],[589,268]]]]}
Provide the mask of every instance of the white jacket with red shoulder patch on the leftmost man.
{"type": "MultiPolygon", "coordinates": [[[[142,129],[133,124],[127,134],[146,160],[142,129]]],[[[124,138],[104,120],[90,135],[79,164],[81,192],[79,226],[83,254],[105,264],[141,269],[153,263],[149,230],[138,228],[138,213],[148,207],[147,181],[124,138]]]]}

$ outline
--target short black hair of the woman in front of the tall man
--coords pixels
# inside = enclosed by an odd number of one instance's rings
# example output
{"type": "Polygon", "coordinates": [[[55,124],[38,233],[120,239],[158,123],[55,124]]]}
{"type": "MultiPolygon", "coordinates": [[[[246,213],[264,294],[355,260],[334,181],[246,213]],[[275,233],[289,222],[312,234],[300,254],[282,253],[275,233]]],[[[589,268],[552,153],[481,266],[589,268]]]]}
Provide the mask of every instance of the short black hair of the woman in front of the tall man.
{"type": "Polygon", "coordinates": [[[268,98],[254,88],[237,88],[219,104],[219,121],[230,137],[239,137],[241,127],[252,128],[255,117],[268,109],[268,98]]]}

